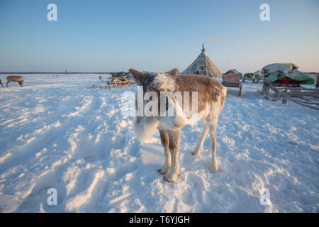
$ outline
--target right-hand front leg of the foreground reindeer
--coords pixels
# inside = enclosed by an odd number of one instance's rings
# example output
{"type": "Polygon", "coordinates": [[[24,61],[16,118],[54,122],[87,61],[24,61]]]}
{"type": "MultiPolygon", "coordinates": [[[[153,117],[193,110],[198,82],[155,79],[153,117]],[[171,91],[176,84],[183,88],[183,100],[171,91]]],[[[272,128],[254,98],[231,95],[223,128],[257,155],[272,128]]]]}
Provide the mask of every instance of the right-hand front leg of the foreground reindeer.
{"type": "Polygon", "coordinates": [[[176,182],[179,176],[179,136],[181,135],[181,129],[176,131],[168,131],[169,134],[169,151],[172,157],[172,166],[169,170],[169,174],[164,176],[164,180],[167,182],[176,182]]]}

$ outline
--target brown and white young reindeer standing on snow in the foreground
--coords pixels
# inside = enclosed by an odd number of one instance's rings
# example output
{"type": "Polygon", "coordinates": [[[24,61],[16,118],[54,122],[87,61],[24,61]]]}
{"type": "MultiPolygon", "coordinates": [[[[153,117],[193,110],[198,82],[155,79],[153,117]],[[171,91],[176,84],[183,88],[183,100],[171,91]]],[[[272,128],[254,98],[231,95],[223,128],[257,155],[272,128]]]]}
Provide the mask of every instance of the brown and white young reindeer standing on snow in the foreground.
{"type": "MultiPolygon", "coordinates": [[[[216,127],[218,116],[225,103],[227,89],[216,79],[201,75],[181,75],[178,69],[173,69],[166,73],[138,72],[134,69],[129,71],[133,75],[135,83],[138,86],[142,86],[143,96],[146,92],[152,92],[151,94],[157,94],[157,97],[160,97],[158,102],[159,116],[137,116],[135,133],[139,140],[145,141],[158,128],[164,148],[165,162],[157,172],[164,175],[164,181],[176,182],[179,176],[178,152],[181,128],[186,123],[189,123],[189,120],[194,123],[194,116],[195,121],[201,121],[204,128],[201,138],[191,154],[200,155],[203,150],[203,142],[209,131],[212,149],[209,169],[211,172],[217,172],[216,127]],[[174,92],[174,94],[178,92],[188,94],[187,92],[189,92],[189,100],[176,99],[176,96],[162,96],[163,92],[174,92]],[[197,92],[197,96],[195,96],[195,93],[193,95],[193,92],[197,92]],[[193,98],[195,103],[197,98],[196,106],[194,106],[193,98]],[[163,99],[166,105],[162,107],[160,103],[163,99]],[[189,103],[187,104],[186,102],[189,103]],[[167,111],[169,111],[169,105],[173,109],[173,116],[166,116],[167,111]],[[189,111],[185,111],[185,108],[183,109],[185,106],[189,106],[189,111]],[[164,115],[162,115],[163,113],[164,115]]],[[[155,98],[156,95],[145,100],[144,96],[144,106],[149,104],[150,101],[155,101],[155,98]]],[[[138,108],[140,107],[138,107],[137,100],[138,108]]]]}

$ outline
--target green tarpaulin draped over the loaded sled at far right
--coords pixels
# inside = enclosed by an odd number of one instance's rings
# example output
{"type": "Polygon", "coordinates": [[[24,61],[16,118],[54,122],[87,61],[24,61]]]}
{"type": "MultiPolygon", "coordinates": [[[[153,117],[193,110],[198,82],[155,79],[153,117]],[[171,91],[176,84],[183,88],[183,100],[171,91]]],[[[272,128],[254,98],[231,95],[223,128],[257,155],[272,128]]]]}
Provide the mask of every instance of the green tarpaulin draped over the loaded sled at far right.
{"type": "Polygon", "coordinates": [[[284,77],[289,77],[291,79],[298,80],[301,84],[315,84],[315,79],[311,78],[308,74],[300,72],[299,70],[293,70],[289,72],[287,75],[282,72],[274,72],[269,74],[266,78],[268,82],[275,82],[277,79],[281,79],[284,77]]]}

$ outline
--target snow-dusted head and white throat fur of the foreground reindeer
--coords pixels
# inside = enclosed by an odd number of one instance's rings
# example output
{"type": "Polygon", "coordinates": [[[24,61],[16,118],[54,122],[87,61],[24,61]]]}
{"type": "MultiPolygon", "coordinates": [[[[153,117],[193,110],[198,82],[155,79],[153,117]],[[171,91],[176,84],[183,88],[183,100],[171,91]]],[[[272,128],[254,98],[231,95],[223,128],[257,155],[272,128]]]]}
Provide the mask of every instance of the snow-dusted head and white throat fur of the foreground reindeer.
{"type": "Polygon", "coordinates": [[[179,74],[178,69],[162,73],[138,72],[130,69],[130,73],[135,83],[142,86],[143,106],[146,109],[151,106],[152,109],[152,115],[143,114],[135,122],[135,130],[141,140],[143,136],[139,136],[139,133],[140,135],[151,134],[159,124],[167,130],[176,130],[184,126],[186,119],[181,111],[181,102],[177,96],[174,96],[177,92],[175,79],[179,74]]]}

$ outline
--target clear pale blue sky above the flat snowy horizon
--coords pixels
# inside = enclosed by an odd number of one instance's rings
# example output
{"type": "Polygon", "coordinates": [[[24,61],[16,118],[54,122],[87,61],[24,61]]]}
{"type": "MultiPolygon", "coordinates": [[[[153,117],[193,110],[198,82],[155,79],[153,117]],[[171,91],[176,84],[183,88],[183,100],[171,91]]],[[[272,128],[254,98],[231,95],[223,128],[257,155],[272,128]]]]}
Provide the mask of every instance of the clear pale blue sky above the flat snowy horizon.
{"type": "Polygon", "coordinates": [[[0,71],[182,71],[201,43],[222,72],[273,62],[319,72],[319,1],[0,0],[0,71]]]}

